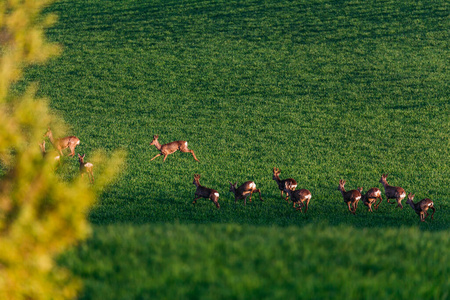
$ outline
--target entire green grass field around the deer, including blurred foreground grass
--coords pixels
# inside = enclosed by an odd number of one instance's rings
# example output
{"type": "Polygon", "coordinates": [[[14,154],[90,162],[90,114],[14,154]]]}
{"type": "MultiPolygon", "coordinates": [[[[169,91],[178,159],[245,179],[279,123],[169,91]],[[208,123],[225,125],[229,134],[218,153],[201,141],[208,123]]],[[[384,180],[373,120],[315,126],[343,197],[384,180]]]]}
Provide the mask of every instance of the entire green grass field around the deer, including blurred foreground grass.
{"type": "MultiPolygon", "coordinates": [[[[31,69],[81,139],[127,168],[62,258],[82,298],[449,297],[449,6],[446,1],[61,1],[63,55],[31,69]],[[273,3],[272,3],[273,2],[273,3]],[[189,153],[150,162],[149,142],[189,153]],[[272,168],[312,193],[306,215],[272,168]],[[221,209],[199,200],[200,182],[221,209]],[[382,173],[435,220],[385,201],[351,215],[337,191],[382,173]],[[265,202],[234,204],[228,181],[265,202]]],[[[75,172],[67,159],[60,172],[75,172]]],[[[384,193],[383,193],[384,196],[384,193]]]]}

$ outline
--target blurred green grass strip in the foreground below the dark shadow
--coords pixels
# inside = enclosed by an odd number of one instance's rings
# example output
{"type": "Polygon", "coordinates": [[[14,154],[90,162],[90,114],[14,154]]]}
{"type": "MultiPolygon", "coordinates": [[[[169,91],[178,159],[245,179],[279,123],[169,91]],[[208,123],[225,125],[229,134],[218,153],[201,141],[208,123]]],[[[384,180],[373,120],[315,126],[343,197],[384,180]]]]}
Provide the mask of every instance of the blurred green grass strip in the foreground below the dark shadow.
{"type": "Polygon", "coordinates": [[[445,299],[449,246],[406,227],[110,225],[61,263],[80,299],[445,299]]]}

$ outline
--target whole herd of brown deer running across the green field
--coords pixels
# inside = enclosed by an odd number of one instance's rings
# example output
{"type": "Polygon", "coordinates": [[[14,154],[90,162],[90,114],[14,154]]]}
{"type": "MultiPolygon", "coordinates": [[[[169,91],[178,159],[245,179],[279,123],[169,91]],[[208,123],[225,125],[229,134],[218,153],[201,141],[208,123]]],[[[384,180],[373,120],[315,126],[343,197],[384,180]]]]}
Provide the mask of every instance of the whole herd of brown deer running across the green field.
{"type": "MultiPolygon", "coordinates": [[[[48,137],[50,142],[52,143],[55,150],[58,151],[60,155],[55,155],[55,161],[59,163],[60,157],[63,156],[62,150],[69,148],[70,154],[69,156],[73,157],[75,155],[75,147],[80,144],[80,140],[75,136],[67,136],[60,139],[54,139],[52,131],[48,129],[47,133],[44,135],[44,137],[48,137]]],[[[163,161],[166,161],[166,158],[169,154],[172,154],[176,152],[177,150],[180,150],[181,152],[189,152],[192,154],[194,159],[196,161],[199,161],[197,157],[195,156],[195,153],[193,150],[188,149],[188,143],[186,141],[174,141],[171,143],[167,143],[164,145],[161,145],[158,142],[158,135],[153,136],[153,140],[150,142],[150,146],[154,145],[156,149],[160,152],[155,157],[151,159],[154,160],[158,156],[164,156],[163,161]]],[[[42,144],[39,144],[42,154],[45,156],[47,155],[45,151],[45,141],[43,141],[42,144]]],[[[80,163],[80,174],[83,176],[84,173],[88,174],[89,181],[91,183],[94,182],[94,174],[93,174],[93,164],[89,162],[84,162],[85,154],[80,155],[78,154],[78,161],[80,163]]],[[[273,168],[273,177],[272,179],[277,183],[278,189],[281,192],[281,197],[289,201],[289,198],[292,201],[293,207],[296,210],[302,211],[304,208],[304,213],[308,211],[309,202],[311,201],[311,192],[307,189],[298,189],[297,190],[297,181],[293,178],[287,178],[287,179],[280,179],[280,170],[278,168],[273,168]]],[[[388,203],[395,204],[397,203],[398,208],[402,209],[402,200],[406,197],[406,192],[403,188],[398,186],[391,186],[388,184],[386,178],[388,174],[381,175],[380,183],[384,187],[384,194],[386,197],[386,201],[388,203]],[[395,199],[396,202],[390,202],[390,199],[395,199]]],[[[254,181],[246,181],[243,184],[241,184],[239,187],[237,186],[237,182],[234,184],[230,183],[230,192],[234,194],[234,201],[235,203],[238,200],[244,199],[244,205],[247,204],[247,198],[249,198],[249,201],[252,201],[252,194],[253,193],[259,193],[259,199],[263,201],[261,196],[261,190],[256,188],[256,184],[254,181]]],[[[368,207],[368,210],[370,212],[373,212],[372,207],[376,210],[380,206],[380,203],[382,202],[383,198],[381,196],[381,190],[373,187],[370,188],[365,194],[362,194],[363,188],[360,187],[356,190],[345,190],[345,180],[339,180],[339,186],[338,190],[341,192],[342,197],[344,199],[345,204],[347,204],[348,210],[353,215],[356,214],[356,209],[358,207],[358,203],[361,200],[365,206],[368,207]]],[[[202,186],[200,184],[200,175],[194,174],[194,181],[193,184],[196,186],[195,191],[195,198],[192,202],[193,204],[197,203],[197,200],[200,198],[206,198],[209,199],[211,202],[214,203],[214,205],[217,207],[217,209],[220,209],[219,204],[219,192],[217,190],[207,188],[205,186],[202,186]]],[[[407,196],[406,203],[409,204],[412,209],[420,216],[420,221],[424,222],[426,217],[428,216],[428,209],[431,209],[433,213],[431,214],[431,219],[433,219],[433,215],[436,211],[434,208],[433,201],[425,198],[421,201],[414,203],[414,195],[409,193],[407,196]]]]}

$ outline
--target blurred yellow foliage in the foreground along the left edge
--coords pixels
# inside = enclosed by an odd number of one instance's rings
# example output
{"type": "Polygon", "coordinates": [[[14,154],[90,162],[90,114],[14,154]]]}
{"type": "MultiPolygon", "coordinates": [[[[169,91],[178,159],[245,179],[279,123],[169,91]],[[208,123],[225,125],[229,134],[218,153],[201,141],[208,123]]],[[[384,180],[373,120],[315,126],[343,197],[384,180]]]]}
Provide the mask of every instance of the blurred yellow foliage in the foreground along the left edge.
{"type": "Polygon", "coordinates": [[[38,144],[49,125],[65,126],[52,115],[48,101],[36,98],[35,86],[19,96],[10,93],[24,68],[60,52],[44,37],[56,20],[54,15],[41,15],[50,2],[0,2],[0,299],[76,295],[79,281],[56,267],[53,259],[87,237],[88,209],[123,160],[122,152],[111,158],[94,155],[101,172],[93,186],[80,176],[62,180],[54,158],[43,156],[38,144]]]}

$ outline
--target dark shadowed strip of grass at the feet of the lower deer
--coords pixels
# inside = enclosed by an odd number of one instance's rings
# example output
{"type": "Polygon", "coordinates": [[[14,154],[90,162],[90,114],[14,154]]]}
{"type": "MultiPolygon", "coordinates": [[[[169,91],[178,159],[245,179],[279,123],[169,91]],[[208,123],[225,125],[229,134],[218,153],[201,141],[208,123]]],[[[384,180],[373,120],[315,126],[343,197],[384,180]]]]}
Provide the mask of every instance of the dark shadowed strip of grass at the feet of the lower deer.
{"type": "MultiPolygon", "coordinates": [[[[136,195],[134,195],[136,196],[136,195]]],[[[89,220],[95,225],[124,224],[214,224],[233,223],[253,226],[298,226],[310,224],[328,224],[330,226],[353,226],[359,229],[418,227],[424,231],[442,231],[450,229],[449,206],[437,207],[434,220],[430,217],[420,222],[410,207],[397,209],[384,202],[379,210],[368,212],[360,205],[356,215],[351,214],[344,204],[334,207],[321,207],[318,203],[310,205],[307,213],[296,211],[289,202],[269,200],[260,202],[253,199],[244,206],[243,201],[234,203],[234,199],[223,197],[220,210],[208,199],[199,199],[192,204],[192,195],[184,201],[171,200],[166,192],[142,195],[139,199],[128,201],[123,205],[103,203],[91,210],[89,220]]],[[[120,202],[120,201],[119,201],[120,202]]]]}

